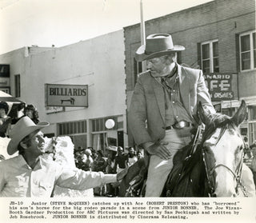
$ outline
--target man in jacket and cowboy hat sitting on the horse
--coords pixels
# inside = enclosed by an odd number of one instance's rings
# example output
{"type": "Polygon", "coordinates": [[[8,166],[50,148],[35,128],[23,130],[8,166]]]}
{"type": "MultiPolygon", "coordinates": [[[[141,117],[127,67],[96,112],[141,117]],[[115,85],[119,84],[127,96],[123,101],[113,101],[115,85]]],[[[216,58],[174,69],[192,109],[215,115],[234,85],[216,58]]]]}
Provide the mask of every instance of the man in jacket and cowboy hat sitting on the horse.
{"type": "Polygon", "coordinates": [[[150,154],[146,197],[159,197],[173,167],[174,153],[191,141],[191,130],[198,125],[197,105],[215,113],[202,70],[178,65],[170,34],[151,34],[135,58],[147,61],[139,75],[128,113],[128,125],[137,145],[150,154]],[[147,125],[147,127],[146,127],[147,125]]]}

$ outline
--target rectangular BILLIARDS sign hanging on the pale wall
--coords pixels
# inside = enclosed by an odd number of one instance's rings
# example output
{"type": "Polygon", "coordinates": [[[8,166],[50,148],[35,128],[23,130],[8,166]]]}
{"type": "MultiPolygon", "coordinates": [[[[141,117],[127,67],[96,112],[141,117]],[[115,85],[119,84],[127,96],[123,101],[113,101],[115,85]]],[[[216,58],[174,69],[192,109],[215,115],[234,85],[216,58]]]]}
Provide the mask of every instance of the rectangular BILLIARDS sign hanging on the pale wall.
{"type": "Polygon", "coordinates": [[[88,107],[88,85],[46,84],[46,106],[88,107]]]}

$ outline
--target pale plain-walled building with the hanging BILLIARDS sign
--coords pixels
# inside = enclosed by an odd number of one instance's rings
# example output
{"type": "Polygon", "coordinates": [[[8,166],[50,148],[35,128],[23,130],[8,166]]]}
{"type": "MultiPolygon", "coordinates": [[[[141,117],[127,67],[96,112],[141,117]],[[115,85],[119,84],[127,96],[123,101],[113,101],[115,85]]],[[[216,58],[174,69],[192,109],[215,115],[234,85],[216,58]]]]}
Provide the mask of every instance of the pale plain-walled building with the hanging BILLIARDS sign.
{"type": "Polygon", "coordinates": [[[47,137],[68,135],[75,149],[106,149],[128,145],[123,52],[119,30],[60,48],[24,47],[0,61],[10,65],[10,94],[50,122],[47,137]],[[113,128],[106,128],[108,119],[113,128]]]}

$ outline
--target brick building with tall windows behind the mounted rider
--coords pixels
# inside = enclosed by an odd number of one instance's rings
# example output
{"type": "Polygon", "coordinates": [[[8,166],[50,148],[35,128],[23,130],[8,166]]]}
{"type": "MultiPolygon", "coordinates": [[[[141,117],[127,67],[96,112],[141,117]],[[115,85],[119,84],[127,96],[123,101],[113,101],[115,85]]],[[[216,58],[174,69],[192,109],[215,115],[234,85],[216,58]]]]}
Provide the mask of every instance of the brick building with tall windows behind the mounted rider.
{"type": "MultiPolygon", "coordinates": [[[[248,118],[241,125],[250,144],[256,139],[256,48],[255,1],[215,0],[154,18],[145,22],[146,36],[172,35],[174,44],[186,47],[178,63],[203,70],[213,104],[222,113],[233,115],[242,99],[248,118]]],[[[140,24],[126,26],[126,103],[142,64],[134,59],[140,43],[140,24]]],[[[134,142],[129,134],[129,143],[134,142]]]]}

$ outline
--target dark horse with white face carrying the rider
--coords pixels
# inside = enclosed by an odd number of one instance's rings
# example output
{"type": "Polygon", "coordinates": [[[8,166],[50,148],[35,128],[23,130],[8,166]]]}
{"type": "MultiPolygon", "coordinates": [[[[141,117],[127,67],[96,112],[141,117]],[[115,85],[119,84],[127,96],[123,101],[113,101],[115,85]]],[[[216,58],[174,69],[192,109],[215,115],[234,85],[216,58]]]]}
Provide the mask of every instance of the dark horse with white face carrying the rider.
{"type": "MultiPolygon", "coordinates": [[[[238,129],[246,117],[246,102],[242,101],[233,117],[206,113],[199,102],[198,117],[205,126],[202,138],[174,155],[161,197],[246,197],[241,181],[245,143],[238,129]]],[[[121,197],[145,195],[148,163],[146,157],[130,166],[121,182],[121,197]]]]}

